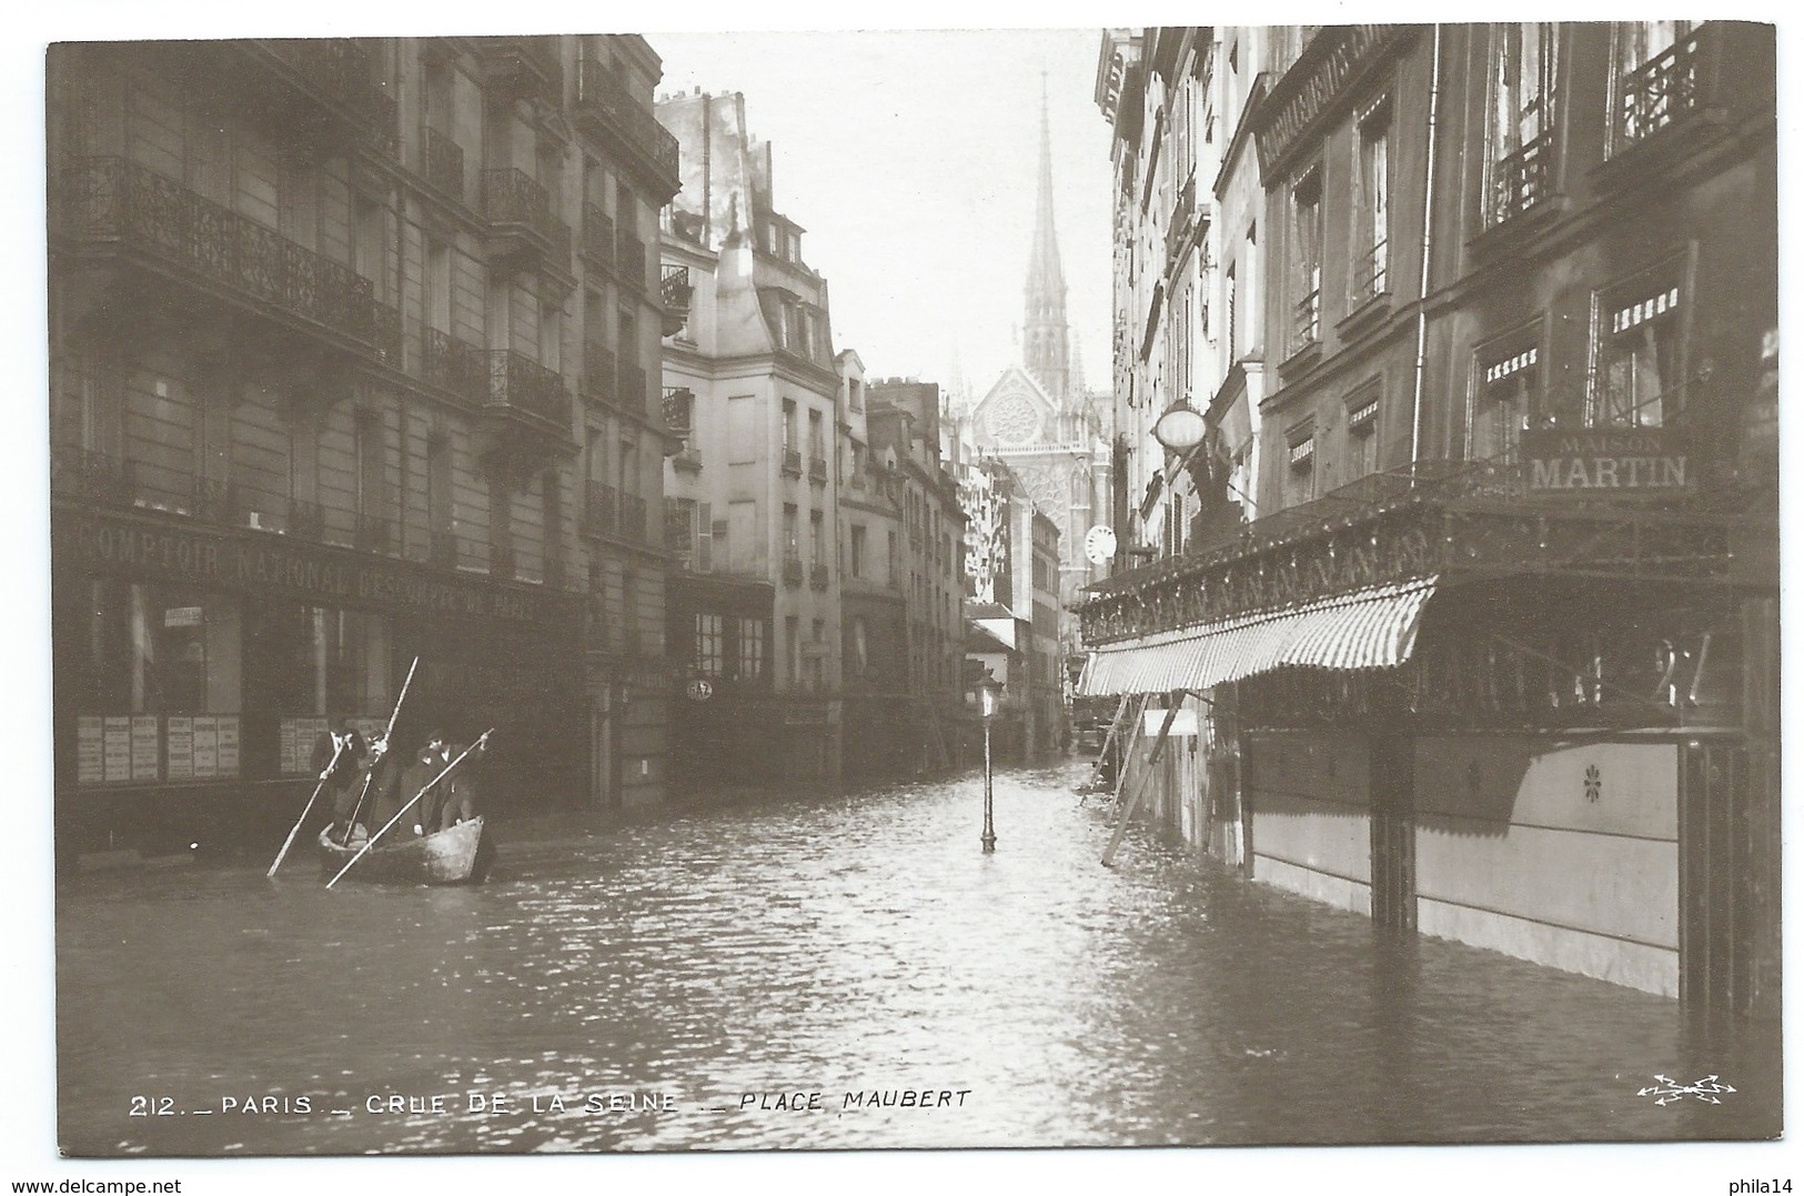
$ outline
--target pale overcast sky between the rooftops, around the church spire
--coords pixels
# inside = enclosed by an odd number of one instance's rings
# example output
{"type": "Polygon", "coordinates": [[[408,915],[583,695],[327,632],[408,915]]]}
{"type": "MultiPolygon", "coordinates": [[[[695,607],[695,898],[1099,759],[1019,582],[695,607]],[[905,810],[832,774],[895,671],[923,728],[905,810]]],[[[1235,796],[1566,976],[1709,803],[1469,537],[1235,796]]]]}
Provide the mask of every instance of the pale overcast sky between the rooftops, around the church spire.
{"type": "Polygon", "coordinates": [[[743,92],[778,209],[873,375],[981,395],[1017,361],[1045,87],[1066,312],[1109,377],[1109,130],[1090,29],[648,32],[664,88],[743,92]]]}

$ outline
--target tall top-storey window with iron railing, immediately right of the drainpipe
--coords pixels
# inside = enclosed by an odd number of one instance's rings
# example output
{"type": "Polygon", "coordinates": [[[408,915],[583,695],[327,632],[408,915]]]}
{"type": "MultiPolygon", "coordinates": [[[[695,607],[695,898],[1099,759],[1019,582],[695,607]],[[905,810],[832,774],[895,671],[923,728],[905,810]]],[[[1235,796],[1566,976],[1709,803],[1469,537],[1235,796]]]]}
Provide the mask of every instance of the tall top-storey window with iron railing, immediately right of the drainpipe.
{"type": "Polygon", "coordinates": [[[1488,114],[1485,224],[1539,204],[1550,186],[1555,25],[1497,25],[1488,114]]]}

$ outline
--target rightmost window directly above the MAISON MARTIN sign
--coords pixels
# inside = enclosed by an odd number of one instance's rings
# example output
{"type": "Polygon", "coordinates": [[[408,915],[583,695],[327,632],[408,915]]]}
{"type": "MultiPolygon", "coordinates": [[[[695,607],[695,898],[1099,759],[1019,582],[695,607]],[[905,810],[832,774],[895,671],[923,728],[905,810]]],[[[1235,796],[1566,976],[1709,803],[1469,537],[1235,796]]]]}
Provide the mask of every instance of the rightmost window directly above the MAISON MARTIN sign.
{"type": "Polygon", "coordinates": [[[1680,283],[1672,271],[1598,299],[1593,428],[1660,428],[1685,408],[1680,379],[1680,283]]]}

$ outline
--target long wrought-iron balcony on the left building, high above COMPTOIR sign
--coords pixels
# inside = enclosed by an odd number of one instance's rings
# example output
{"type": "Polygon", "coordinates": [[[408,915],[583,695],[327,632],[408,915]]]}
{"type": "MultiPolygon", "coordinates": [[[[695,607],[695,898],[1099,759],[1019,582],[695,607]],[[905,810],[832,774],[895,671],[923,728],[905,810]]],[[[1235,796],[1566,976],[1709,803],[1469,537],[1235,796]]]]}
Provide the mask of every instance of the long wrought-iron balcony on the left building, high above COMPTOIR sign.
{"type": "Polygon", "coordinates": [[[119,157],[76,159],[56,179],[58,240],[240,308],[400,363],[400,316],[350,267],[119,157]]]}

